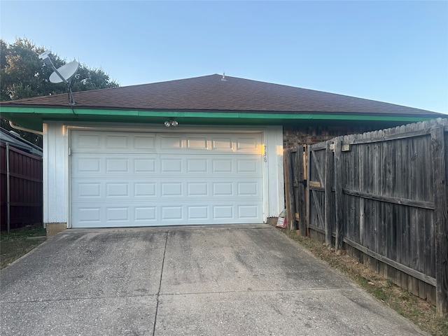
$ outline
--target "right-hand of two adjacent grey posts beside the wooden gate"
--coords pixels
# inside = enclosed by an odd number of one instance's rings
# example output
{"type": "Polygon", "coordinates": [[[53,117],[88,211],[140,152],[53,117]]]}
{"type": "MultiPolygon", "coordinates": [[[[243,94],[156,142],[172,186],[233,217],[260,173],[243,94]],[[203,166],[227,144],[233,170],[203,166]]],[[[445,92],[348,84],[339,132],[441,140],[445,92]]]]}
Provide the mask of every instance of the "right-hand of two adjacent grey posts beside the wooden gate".
{"type": "Polygon", "coordinates": [[[343,204],[342,204],[342,140],[336,139],[335,141],[335,226],[336,226],[336,240],[335,250],[337,254],[342,250],[342,239],[344,238],[344,221],[343,216],[343,204]]]}

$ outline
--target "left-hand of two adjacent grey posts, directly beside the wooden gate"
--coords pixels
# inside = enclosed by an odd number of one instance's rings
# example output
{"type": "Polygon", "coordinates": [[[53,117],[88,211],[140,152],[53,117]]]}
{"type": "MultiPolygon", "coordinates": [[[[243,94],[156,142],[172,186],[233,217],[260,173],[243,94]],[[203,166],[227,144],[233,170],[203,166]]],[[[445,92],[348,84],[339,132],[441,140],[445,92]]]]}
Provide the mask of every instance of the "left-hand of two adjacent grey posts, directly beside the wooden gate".
{"type": "Polygon", "coordinates": [[[331,240],[332,240],[332,171],[334,169],[333,165],[333,155],[330,149],[331,141],[326,142],[325,146],[325,244],[327,248],[331,248],[331,240]]]}

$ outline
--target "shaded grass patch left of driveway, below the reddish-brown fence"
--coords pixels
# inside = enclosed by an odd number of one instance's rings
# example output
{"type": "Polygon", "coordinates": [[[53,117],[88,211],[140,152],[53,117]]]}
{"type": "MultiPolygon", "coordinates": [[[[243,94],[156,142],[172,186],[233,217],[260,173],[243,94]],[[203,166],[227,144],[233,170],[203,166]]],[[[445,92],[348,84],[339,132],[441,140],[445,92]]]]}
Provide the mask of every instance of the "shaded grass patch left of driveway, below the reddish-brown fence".
{"type": "Polygon", "coordinates": [[[46,230],[39,226],[29,226],[9,233],[0,234],[0,269],[10,265],[47,239],[46,230]]]}

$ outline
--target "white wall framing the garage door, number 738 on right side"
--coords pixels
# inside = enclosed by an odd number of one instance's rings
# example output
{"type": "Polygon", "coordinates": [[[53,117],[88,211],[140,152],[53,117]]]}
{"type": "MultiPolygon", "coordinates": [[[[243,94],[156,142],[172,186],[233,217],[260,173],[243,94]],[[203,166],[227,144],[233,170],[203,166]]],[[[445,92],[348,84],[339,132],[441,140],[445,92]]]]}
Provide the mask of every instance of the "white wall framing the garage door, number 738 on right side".
{"type": "MultiPolygon", "coordinates": [[[[112,125],[112,124],[70,124],[48,122],[43,124],[43,221],[44,223],[70,223],[70,130],[75,128],[97,130],[144,130],[157,132],[159,126],[112,125]]],[[[197,130],[205,127],[188,127],[197,130]]],[[[278,216],[284,207],[283,193],[283,127],[220,127],[229,132],[257,131],[263,132],[265,155],[263,155],[263,218],[278,216]]],[[[166,132],[165,128],[162,128],[166,132]]],[[[187,130],[187,128],[184,128],[187,130]]],[[[207,132],[213,131],[207,127],[207,132]]]]}

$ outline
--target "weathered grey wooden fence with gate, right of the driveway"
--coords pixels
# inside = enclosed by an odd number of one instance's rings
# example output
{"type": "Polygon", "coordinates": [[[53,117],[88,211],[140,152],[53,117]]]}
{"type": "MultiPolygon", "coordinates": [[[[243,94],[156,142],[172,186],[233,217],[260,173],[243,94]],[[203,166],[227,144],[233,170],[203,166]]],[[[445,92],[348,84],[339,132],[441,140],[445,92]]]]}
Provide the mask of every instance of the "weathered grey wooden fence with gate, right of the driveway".
{"type": "Polygon", "coordinates": [[[285,151],[286,207],[298,212],[300,233],[360,258],[448,316],[448,119],[308,146],[306,190],[303,157],[300,148],[285,151]]]}

